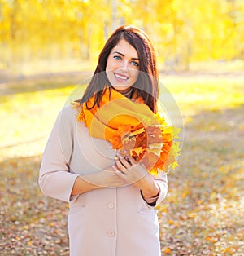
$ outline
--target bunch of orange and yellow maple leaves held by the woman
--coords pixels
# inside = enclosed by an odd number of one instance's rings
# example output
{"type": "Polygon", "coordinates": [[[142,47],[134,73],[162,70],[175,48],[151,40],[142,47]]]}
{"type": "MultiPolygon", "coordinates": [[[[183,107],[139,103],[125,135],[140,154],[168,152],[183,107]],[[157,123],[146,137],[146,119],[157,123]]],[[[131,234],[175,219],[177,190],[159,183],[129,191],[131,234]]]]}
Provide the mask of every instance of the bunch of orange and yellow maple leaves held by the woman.
{"type": "Polygon", "coordinates": [[[181,130],[168,126],[164,117],[157,116],[157,120],[157,124],[150,126],[142,123],[137,126],[121,125],[117,135],[110,140],[122,157],[132,156],[155,175],[178,166],[176,157],[180,154],[180,142],[174,139],[179,138],[181,130]]]}

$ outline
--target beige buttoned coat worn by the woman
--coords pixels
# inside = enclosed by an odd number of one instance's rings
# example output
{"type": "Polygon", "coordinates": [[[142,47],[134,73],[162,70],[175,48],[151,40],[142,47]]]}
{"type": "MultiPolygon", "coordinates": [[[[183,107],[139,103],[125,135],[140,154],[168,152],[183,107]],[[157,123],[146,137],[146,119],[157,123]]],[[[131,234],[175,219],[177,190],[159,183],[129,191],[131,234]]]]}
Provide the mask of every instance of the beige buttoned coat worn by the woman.
{"type": "MultiPolygon", "coordinates": [[[[41,162],[39,184],[44,195],[67,201],[70,254],[73,256],[159,256],[159,222],[139,189],[102,188],[71,196],[77,175],[95,173],[114,164],[115,150],[89,136],[76,121],[76,109],[59,113],[41,162]]],[[[167,177],[156,179],[168,191],[167,177]]]]}

